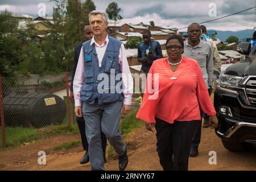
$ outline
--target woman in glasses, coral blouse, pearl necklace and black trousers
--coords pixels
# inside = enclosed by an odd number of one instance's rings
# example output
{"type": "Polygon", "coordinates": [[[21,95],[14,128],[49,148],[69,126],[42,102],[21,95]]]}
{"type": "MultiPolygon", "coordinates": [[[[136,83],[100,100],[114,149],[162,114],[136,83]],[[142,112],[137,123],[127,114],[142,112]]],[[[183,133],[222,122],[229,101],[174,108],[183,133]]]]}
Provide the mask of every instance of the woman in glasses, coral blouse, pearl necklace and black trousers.
{"type": "Polygon", "coordinates": [[[136,117],[146,122],[147,130],[155,127],[156,151],[163,169],[188,170],[192,138],[201,119],[199,104],[210,116],[212,128],[217,127],[218,119],[199,64],[182,56],[181,36],[170,36],[166,49],[168,57],[155,60],[148,72],[136,117]],[[151,92],[152,89],[156,91],[151,92]]]}

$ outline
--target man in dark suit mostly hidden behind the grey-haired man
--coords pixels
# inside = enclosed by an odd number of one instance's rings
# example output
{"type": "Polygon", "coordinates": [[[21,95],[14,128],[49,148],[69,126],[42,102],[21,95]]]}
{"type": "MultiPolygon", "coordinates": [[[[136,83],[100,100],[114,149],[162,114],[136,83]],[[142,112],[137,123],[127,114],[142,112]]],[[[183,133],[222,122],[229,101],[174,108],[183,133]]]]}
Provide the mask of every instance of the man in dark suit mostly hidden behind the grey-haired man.
{"type": "MultiPolygon", "coordinates": [[[[85,41],[92,39],[93,37],[93,32],[90,28],[89,25],[86,25],[84,27],[84,38],[85,41]]],[[[78,44],[75,47],[75,57],[74,57],[74,63],[73,63],[73,72],[72,72],[72,81],[71,81],[71,88],[70,88],[70,97],[71,97],[71,101],[74,103],[74,94],[73,94],[73,80],[75,77],[75,73],[76,73],[76,67],[77,67],[77,62],[79,60],[79,55],[80,55],[80,51],[81,51],[81,47],[82,47],[82,43],[78,44]]],[[[86,164],[89,162],[89,153],[88,153],[88,142],[86,139],[86,134],[85,134],[85,121],[83,117],[76,117],[76,122],[77,125],[79,126],[79,131],[81,134],[81,139],[82,139],[82,147],[85,150],[85,155],[82,157],[82,159],[80,160],[80,164],[86,164]]],[[[102,145],[102,150],[103,150],[103,154],[104,154],[104,160],[106,163],[106,136],[104,133],[101,132],[101,145],[102,145]]]]}

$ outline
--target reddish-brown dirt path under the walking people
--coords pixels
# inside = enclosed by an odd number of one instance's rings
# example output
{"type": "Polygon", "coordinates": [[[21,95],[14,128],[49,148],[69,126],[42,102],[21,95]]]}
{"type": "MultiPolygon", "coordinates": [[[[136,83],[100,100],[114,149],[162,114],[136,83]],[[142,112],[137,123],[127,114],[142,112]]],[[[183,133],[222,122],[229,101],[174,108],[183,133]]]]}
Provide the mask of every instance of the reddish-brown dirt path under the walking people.
{"type": "MultiPolygon", "coordinates": [[[[199,156],[189,158],[189,170],[256,170],[256,150],[234,153],[226,150],[214,130],[203,129],[199,156]],[[210,165],[209,151],[217,152],[217,164],[210,165]]],[[[34,143],[0,152],[0,170],[90,170],[90,164],[79,164],[84,155],[81,144],[70,150],[53,151],[64,142],[80,140],[73,137],[52,136],[34,143]],[[38,164],[38,152],[46,151],[47,165],[38,164]]],[[[156,153],[155,133],[144,127],[126,136],[129,164],[127,170],[162,170],[156,153]]],[[[108,159],[106,170],[118,170],[118,160],[108,159]]]]}

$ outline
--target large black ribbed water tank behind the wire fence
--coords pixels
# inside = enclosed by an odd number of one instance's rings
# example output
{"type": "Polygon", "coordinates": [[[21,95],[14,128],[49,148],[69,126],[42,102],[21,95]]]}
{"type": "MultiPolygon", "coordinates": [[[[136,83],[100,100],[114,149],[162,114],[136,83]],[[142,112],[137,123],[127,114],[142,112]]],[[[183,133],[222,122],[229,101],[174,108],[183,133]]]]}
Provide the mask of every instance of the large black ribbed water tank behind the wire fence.
{"type": "Polygon", "coordinates": [[[7,126],[59,125],[67,114],[65,102],[55,94],[9,94],[3,105],[7,126]]]}

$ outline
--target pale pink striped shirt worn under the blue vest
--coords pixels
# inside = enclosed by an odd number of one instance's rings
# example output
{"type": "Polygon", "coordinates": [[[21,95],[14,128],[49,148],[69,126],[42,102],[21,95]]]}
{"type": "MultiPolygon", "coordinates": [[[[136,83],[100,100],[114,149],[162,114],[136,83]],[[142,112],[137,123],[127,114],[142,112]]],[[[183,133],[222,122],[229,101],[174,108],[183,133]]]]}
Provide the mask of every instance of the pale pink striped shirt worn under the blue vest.
{"type": "MultiPolygon", "coordinates": [[[[106,36],[105,42],[102,45],[97,44],[93,36],[90,45],[92,46],[93,43],[95,45],[97,56],[98,56],[98,64],[99,64],[99,67],[101,67],[102,59],[105,55],[105,51],[109,43],[108,35],[106,36]]],[[[133,94],[133,77],[131,76],[127,58],[126,58],[126,55],[123,53],[123,50],[125,50],[125,47],[122,44],[119,49],[118,62],[122,72],[123,104],[131,105],[131,96],[133,94]]],[[[76,68],[76,74],[73,81],[75,106],[82,105],[80,100],[80,90],[84,85],[84,72],[85,72],[84,71],[84,52],[82,51],[82,48],[81,48],[79,61],[77,63],[77,68],[76,68]]]]}

